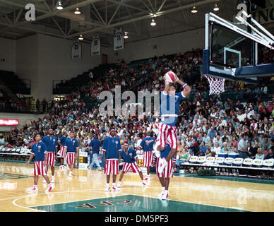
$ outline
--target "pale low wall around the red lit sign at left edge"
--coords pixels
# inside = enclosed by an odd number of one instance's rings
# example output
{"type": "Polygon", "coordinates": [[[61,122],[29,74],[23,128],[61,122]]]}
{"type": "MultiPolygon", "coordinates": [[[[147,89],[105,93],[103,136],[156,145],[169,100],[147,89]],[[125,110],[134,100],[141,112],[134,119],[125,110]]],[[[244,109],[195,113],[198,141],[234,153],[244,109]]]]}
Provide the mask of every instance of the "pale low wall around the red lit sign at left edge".
{"type": "MultiPolygon", "coordinates": [[[[1,119],[18,119],[19,124],[18,129],[22,128],[23,125],[30,125],[31,121],[36,121],[39,118],[42,118],[44,114],[19,114],[19,113],[4,113],[1,112],[1,119]]],[[[0,132],[11,131],[11,128],[16,126],[0,126],[0,132]]]]}

